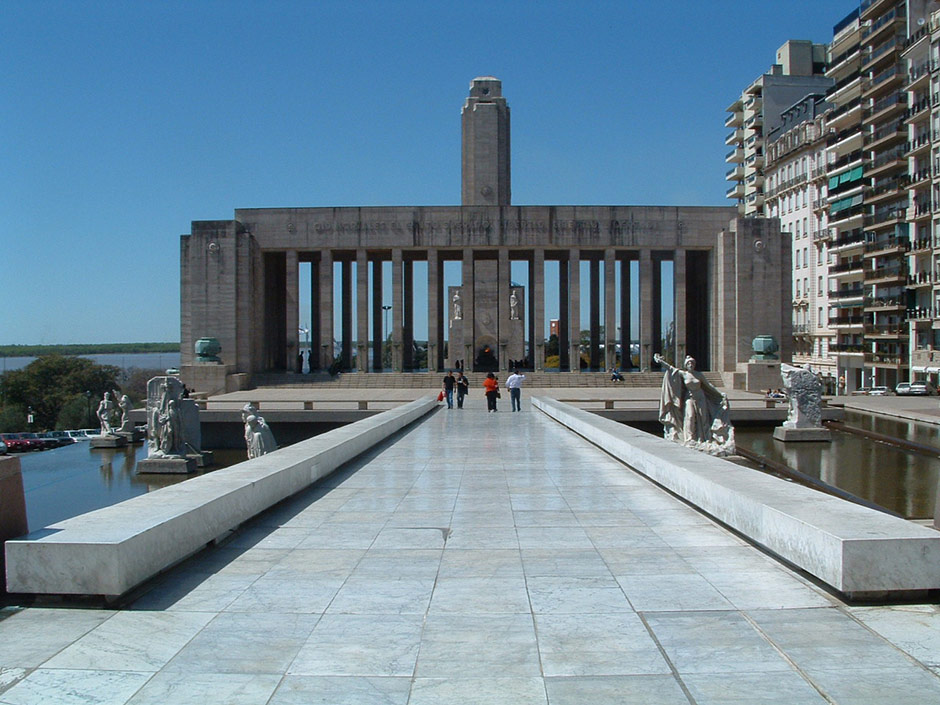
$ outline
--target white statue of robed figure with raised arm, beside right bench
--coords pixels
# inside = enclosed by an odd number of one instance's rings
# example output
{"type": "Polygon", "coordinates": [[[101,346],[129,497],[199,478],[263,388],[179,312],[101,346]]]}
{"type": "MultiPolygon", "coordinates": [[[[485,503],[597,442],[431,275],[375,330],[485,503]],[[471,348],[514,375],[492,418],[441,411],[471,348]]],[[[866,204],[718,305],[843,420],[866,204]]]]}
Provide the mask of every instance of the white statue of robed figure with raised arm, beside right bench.
{"type": "Polygon", "coordinates": [[[695,358],[687,356],[682,369],[673,367],[656,353],[654,362],[665,366],[659,421],[663,436],[711,455],[734,453],[734,428],[728,397],[695,369],[695,358]]]}

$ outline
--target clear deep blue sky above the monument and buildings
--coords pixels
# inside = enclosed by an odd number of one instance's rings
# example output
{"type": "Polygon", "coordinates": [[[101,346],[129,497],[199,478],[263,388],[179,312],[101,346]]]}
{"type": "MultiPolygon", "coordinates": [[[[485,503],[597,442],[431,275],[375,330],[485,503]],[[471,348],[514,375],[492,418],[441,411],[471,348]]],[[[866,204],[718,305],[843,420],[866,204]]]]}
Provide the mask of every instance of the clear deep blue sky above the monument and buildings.
{"type": "Polygon", "coordinates": [[[725,107],[857,3],[0,2],[0,343],[179,339],[235,208],[460,201],[494,75],[513,203],[726,205],[725,107]]]}

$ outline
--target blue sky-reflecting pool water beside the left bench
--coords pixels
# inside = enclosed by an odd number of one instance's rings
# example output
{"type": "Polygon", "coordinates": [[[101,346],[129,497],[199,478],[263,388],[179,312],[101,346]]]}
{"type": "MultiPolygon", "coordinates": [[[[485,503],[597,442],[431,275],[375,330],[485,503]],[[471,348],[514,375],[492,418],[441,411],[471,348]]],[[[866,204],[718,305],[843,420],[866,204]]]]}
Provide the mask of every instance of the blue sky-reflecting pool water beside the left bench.
{"type": "MultiPolygon", "coordinates": [[[[194,475],[136,475],[146,444],[126,448],[91,448],[82,441],[64,448],[19,455],[30,531],[194,475]]],[[[215,470],[245,459],[244,451],[215,451],[215,470]]]]}

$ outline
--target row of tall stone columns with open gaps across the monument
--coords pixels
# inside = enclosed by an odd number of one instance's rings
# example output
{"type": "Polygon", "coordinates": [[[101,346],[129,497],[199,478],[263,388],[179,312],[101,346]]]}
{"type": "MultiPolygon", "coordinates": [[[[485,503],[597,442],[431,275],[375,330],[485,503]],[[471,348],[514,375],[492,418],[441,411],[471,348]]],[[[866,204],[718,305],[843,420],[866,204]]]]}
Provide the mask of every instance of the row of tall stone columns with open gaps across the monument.
{"type": "Polygon", "coordinates": [[[382,345],[386,333],[391,343],[392,369],[399,372],[413,369],[415,292],[417,287],[426,286],[429,372],[454,367],[458,361],[462,361],[467,370],[475,369],[480,366],[476,363],[480,350],[487,345],[492,345],[500,370],[508,369],[512,360],[523,359],[528,363],[527,367],[541,370],[545,363],[544,330],[547,323],[546,263],[551,267],[552,262],[558,267],[558,340],[562,369],[579,370],[582,330],[590,331],[591,345],[587,356],[591,368],[611,368],[621,364],[625,369],[632,367],[629,356],[631,328],[637,315],[641,365],[648,365],[654,352],[664,352],[660,349],[663,291],[659,264],[662,261],[673,262],[676,347],[682,353],[686,346],[687,257],[684,249],[322,248],[267,252],[265,257],[269,260],[266,271],[277,268],[277,261],[283,258],[285,275],[283,298],[275,292],[265,304],[266,315],[279,316],[280,302],[284,302],[286,345],[284,349],[276,344],[269,346],[267,366],[271,369],[291,369],[288,356],[290,351],[301,349],[304,335],[301,323],[305,320],[311,321],[312,369],[330,366],[337,352],[334,350],[336,341],[340,343],[338,354],[342,367],[353,367],[352,352],[355,350],[355,368],[359,372],[381,370],[384,367],[382,345]],[[456,287],[460,291],[459,313],[455,311],[449,291],[445,290],[444,263],[447,261],[460,264],[461,283],[456,287]],[[300,267],[305,262],[311,265],[308,297],[302,296],[300,291],[300,267]],[[392,296],[388,301],[384,296],[383,267],[387,262],[391,263],[392,278],[392,296]],[[414,265],[417,262],[426,263],[426,282],[415,276],[414,265]],[[524,286],[513,286],[511,262],[527,264],[528,281],[524,286]],[[582,262],[587,263],[588,320],[581,317],[582,262]],[[355,274],[353,264],[356,265],[355,274]],[[495,274],[495,281],[479,281],[479,270],[483,267],[495,274]],[[634,311],[631,287],[637,273],[640,306],[639,311],[634,311]],[[619,281],[619,287],[614,285],[616,281],[619,281]],[[477,294],[482,290],[485,295],[490,289],[494,290],[495,302],[479,303],[477,294]],[[339,302],[333,300],[336,292],[339,292],[339,302]],[[511,305],[514,292],[521,309],[518,313],[511,305]],[[526,295],[528,307],[522,305],[526,295]],[[305,307],[301,302],[305,298],[310,302],[310,311],[302,310],[305,307]],[[387,306],[390,306],[388,313],[391,315],[388,331],[385,330],[387,306]],[[495,325],[487,320],[491,308],[498,317],[495,325]],[[353,310],[356,313],[355,329],[353,310]],[[338,316],[335,316],[335,311],[339,311],[338,316]],[[477,318],[483,320],[477,321],[477,318]],[[519,321],[518,328],[524,331],[524,336],[522,340],[511,341],[509,333],[516,321],[519,321]],[[450,330],[445,336],[448,328],[450,330]],[[462,330],[458,332],[458,328],[462,330]],[[450,343],[446,353],[445,341],[450,343]],[[370,345],[371,359],[368,355],[370,345]],[[617,346],[626,352],[622,363],[617,360],[617,346]]]}

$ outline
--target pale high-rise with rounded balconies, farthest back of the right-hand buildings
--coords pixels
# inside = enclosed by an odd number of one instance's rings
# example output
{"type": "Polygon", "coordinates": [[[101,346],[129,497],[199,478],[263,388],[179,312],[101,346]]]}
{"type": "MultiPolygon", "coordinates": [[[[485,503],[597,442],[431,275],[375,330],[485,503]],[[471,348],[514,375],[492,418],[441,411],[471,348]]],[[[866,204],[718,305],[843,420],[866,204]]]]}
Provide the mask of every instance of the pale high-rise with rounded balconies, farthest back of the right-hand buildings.
{"type": "Polygon", "coordinates": [[[777,50],[776,63],[758,76],[728,106],[725,125],[733,131],[725,139],[732,150],[726,178],[732,182],[727,197],[745,216],[764,214],[764,135],[777,128],[782,114],[811,93],[822,93],[831,80],[823,75],[826,45],[791,39],[777,50]]]}

